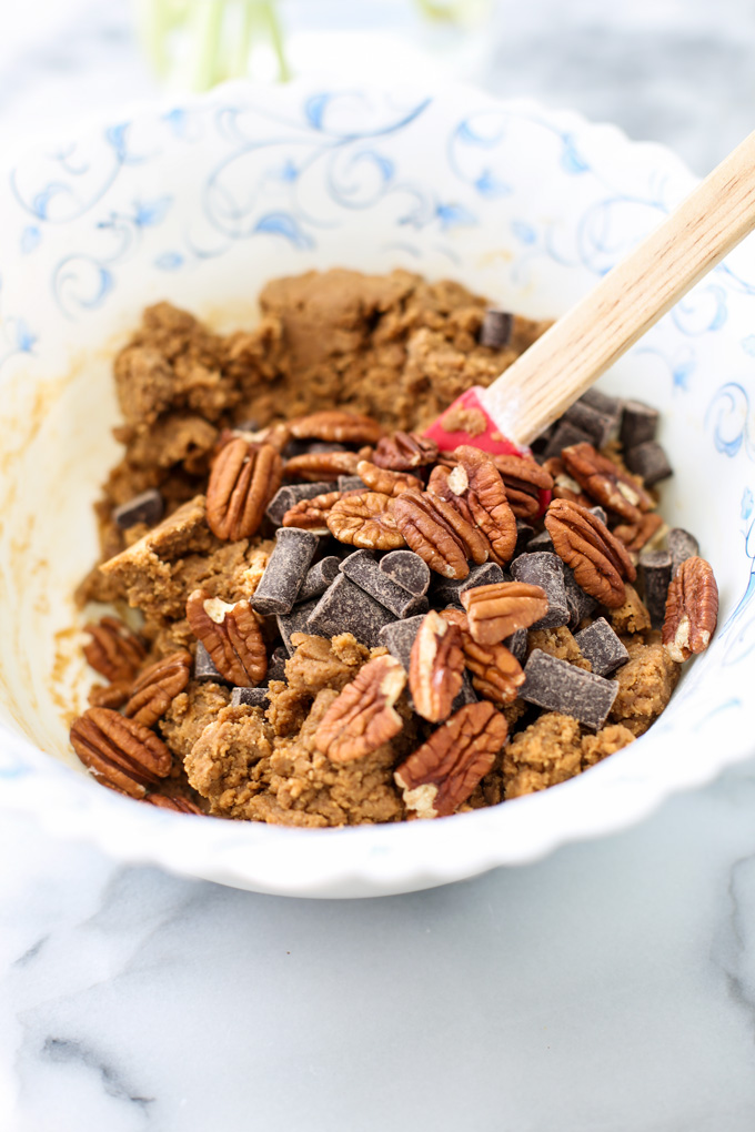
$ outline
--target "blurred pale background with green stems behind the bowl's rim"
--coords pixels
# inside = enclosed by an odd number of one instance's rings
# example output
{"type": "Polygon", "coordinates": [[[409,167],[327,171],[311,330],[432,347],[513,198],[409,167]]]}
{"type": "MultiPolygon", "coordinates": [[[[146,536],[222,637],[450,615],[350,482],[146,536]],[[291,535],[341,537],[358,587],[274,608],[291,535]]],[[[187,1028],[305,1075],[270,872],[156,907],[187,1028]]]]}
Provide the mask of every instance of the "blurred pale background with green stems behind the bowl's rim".
{"type": "Polygon", "coordinates": [[[755,125],[753,0],[6,0],[0,145],[248,75],[461,78],[663,142],[704,173],[755,125]]]}

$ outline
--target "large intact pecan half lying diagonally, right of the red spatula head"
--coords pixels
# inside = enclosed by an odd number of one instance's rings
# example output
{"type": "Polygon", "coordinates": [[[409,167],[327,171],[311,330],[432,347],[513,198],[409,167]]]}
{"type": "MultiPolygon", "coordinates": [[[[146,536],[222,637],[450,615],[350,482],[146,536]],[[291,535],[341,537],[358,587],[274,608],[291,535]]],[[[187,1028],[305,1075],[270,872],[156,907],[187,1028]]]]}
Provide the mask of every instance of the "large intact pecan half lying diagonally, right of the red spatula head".
{"type": "Polygon", "coordinates": [[[624,580],[634,582],[637,572],[624,544],[597,515],[577,503],[554,499],[546,529],[556,554],[572,567],[585,593],[609,609],[624,604],[624,580]]]}

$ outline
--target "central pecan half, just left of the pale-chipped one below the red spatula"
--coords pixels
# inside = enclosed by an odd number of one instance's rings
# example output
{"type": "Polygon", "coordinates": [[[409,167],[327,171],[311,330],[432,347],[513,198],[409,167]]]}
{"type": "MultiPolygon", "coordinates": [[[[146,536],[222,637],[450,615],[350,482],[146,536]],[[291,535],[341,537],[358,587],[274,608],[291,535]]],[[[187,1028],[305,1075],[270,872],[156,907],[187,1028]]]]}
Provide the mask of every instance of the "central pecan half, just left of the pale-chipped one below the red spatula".
{"type": "Polygon", "coordinates": [[[395,500],[396,526],[414,554],[444,577],[464,578],[467,559],[487,561],[490,544],[451,504],[427,491],[403,491],[395,500]]]}

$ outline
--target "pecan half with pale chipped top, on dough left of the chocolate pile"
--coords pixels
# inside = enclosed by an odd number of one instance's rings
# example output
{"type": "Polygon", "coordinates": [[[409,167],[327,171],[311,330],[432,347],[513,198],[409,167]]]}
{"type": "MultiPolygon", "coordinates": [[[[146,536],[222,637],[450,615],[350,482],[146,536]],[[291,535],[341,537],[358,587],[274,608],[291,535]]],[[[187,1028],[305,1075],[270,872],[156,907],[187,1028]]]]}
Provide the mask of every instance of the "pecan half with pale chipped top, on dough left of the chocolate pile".
{"type": "Polygon", "coordinates": [[[223,679],[251,688],[267,672],[265,642],[248,599],[231,604],[195,590],[186,603],[189,628],[213,659],[223,679]]]}

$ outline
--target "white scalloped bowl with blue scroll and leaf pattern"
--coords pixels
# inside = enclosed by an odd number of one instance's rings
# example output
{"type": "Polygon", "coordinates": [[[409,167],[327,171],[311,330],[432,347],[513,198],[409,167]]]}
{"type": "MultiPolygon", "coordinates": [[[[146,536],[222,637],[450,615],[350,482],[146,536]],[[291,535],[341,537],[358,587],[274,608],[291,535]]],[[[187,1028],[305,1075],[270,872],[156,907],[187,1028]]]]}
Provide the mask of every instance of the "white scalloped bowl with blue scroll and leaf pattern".
{"type": "Polygon", "coordinates": [[[229,85],[40,146],[0,179],[0,784],[3,801],[127,861],[260,892],[404,892],[626,827],[752,751],[755,247],[602,383],[658,405],[721,620],[662,720],[543,794],[436,822],[298,831],[138,805],[70,754],[86,675],[71,591],[118,455],[113,349],[169,298],[226,329],[271,277],[343,265],[461,280],[555,316],[694,183],[616,128],[461,87],[229,85]],[[753,281],[753,282],[750,282],[753,281]]]}

